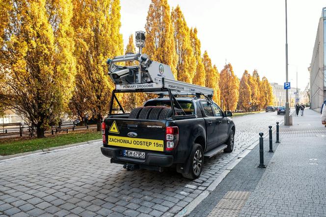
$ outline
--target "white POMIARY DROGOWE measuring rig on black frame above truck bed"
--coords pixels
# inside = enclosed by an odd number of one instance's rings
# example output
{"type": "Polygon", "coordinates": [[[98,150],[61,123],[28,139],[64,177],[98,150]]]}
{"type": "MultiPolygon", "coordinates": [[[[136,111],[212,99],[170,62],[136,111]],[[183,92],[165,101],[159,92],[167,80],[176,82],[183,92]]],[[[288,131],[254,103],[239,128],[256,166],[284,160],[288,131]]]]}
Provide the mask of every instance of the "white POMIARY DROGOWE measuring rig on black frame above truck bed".
{"type": "MultiPolygon", "coordinates": [[[[137,79],[136,73],[130,73],[130,71],[137,71],[139,70],[138,65],[136,66],[119,66],[115,65],[114,63],[116,62],[128,62],[128,61],[138,61],[138,59],[141,59],[142,56],[139,54],[127,54],[124,56],[118,56],[114,57],[113,60],[109,60],[109,74],[110,77],[112,78],[113,82],[115,83],[115,90],[112,91],[111,95],[111,103],[110,103],[110,108],[109,108],[109,115],[112,114],[112,110],[114,111],[122,111],[122,113],[125,113],[121,103],[119,102],[118,98],[116,97],[115,93],[156,93],[160,95],[160,97],[163,97],[164,95],[168,96],[171,102],[171,109],[172,109],[172,118],[176,115],[175,113],[175,105],[179,109],[182,110],[183,115],[186,115],[186,113],[183,111],[182,107],[176,100],[177,96],[195,96],[195,97],[200,97],[203,95],[205,98],[207,98],[209,101],[211,101],[213,97],[214,90],[212,88],[206,88],[202,87],[199,85],[194,85],[182,81],[176,81],[173,79],[173,75],[171,72],[167,70],[167,72],[170,73],[170,75],[163,77],[164,74],[161,72],[162,71],[162,63],[159,63],[159,67],[157,68],[158,70],[155,71],[151,67],[154,61],[150,61],[151,64],[148,65],[147,68],[151,68],[151,75],[147,70],[145,70],[145,73],[147,73],[148,77],[152,79],[153,74],[161,75],[161,77],[156,77],[155,81],[151,80],[146,83],[134,83],[128,81],[127,79],[122,80],[121,78],[119,80],[114,78],[114,73],[118,74],[119,71],[123,71],[125,77],[130,76],[131,80],[137,79]],[[118,70],[117,70],[118,69],[118,70]],[[113,71],[113,72],[112,72],[113,71]],[[129,72],[128,72],[129,71],[129,72]],[[112,75],[113,74],[113,75],[112,75]],[[170,78],[167,78],[170,77],[170,78]],[[127,82],[126,82],[127,81],[127,82]],[[116,100],[118,106],[120,107],[119,109],[113,109],[113,103],[114,99],[116,100]]],[[[149,58],[147,58],[149,59],[149,58]]],[[[148,61],[148,60],[147,60],[148,61]]],[[[169,69],[169,66],[165,65],[167,69],[169,69]]],[[[142,67],[143,68],[143,67],[142,67]]],[[[163,69],[164,71],[164,69],[163,69]]],[[[120,74],[122,74],[120,73],[120,74]]]]}

